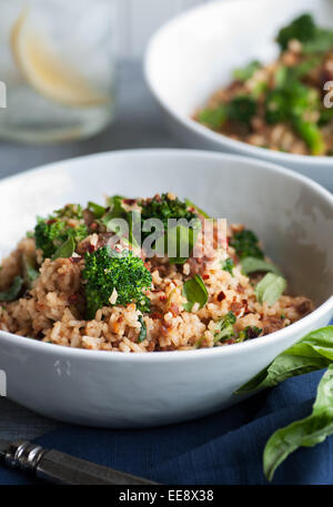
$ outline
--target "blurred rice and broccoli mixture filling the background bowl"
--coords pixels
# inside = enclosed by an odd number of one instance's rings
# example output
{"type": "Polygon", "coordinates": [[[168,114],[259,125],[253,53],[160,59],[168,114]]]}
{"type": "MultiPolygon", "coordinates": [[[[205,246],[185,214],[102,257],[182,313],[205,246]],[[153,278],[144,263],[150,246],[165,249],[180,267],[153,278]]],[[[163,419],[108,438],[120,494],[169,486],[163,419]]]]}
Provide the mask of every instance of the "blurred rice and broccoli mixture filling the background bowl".
{"type": "Polygon", "coordinates": [[[233,81],[194,119],[255,146],[333,155],[333,30],[304,13],[279,31],[276,42],[281,51],[275,61],[236,69],[233,81]]]}

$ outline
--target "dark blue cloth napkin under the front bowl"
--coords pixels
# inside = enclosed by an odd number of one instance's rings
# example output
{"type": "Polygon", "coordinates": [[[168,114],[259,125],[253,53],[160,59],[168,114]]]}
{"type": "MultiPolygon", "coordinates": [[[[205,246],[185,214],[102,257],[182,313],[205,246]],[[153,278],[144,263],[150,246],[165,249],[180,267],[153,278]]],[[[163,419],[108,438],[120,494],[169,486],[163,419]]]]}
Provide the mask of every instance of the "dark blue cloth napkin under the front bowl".
{"type": "MultiPolygon", "coordinates": [[[[262,471],[264,445],[275,429],[310,414],[322,375],[323,371],[291,378],[191,423],[127,430],[64,426],[38,442],[162,484],[268,484],[262,471]]],[[[333,436],[291,455],[273,484],[332,484],[332,464],[333,436]]],[[[0,484],[41,483],[1,467],[0,484]]]]}

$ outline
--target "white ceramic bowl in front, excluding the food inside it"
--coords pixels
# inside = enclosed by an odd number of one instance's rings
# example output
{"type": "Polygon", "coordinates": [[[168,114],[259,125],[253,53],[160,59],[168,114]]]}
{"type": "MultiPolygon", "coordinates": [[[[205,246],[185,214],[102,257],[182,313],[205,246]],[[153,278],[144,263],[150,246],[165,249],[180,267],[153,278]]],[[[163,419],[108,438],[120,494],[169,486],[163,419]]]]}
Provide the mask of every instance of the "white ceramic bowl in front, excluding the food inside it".
{"type": "Polygon", "coordinates": [[[333,195],[266,162],[211,152],[143,150],[59,162],[0,182],[0,257],[36,215],[101,194],[172,191],[211,215],[244,222],[294,292],[317,308],[269,336],[225,347],[124,354],[50,345],[0,332],[8,396],[46,416],[94,426],[153,426],[218,410],[281,351],[333,316],[333,195]]]}

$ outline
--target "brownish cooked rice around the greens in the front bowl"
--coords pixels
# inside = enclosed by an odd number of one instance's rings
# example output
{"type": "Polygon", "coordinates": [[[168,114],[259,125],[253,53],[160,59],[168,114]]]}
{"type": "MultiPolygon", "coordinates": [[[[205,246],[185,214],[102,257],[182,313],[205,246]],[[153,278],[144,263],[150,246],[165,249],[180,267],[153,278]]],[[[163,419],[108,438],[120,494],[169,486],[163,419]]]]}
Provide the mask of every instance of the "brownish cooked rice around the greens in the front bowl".
{"type": "MultiPolygon", "coordinates": [[[[153,199],[161,202],[159,195],[153,199]]],[[[176,197],[169,195],[168,199],[176,197]]],[[[148,203],[151,201],[147,200],[148,203]]],[[[123,202],[129,210],[138,209],[138,200],[123,202]]],[[[186,206],[183,207],[186,212],[196,210],[195,206],[186,206]]],[[[266,335],[292,324],[313,310],[307,297],[294,297],[285,293],[271,305],[261,303],[255,294],[255,284],[263,274],[244,275],[236,247],[230,244],[226,247],[226,237],[219,243],[215,229],[213,235],[209,236],[205,229],[201,227],[195,247],[183,264],[173,264],[167,256],[147,258],[144,250],[133,250],[142,266],[144,263],[144,271],[148,270],[151,274],[152,284],[144,290],[150,311],[142,312],[134,302],[118,304],[119,292],[114,286],[107,298],[107,305],[99,307],[93,318],[88,320],[83,273],[87,267],[85,254],[99,251],[110,239],[114,239],[114,233],[108,232],[101,223],[98,225],[89,210],[83,213],[80,211],[79,220],[72,217],[73,212],[78,214],[78,206],[68,205],[62,211],[67,219],[61,220],[68,220],[69,231],[72,232],[72,227],[77,226],[80,231],[82,226],[87,229],[69,258],[43,258],[43,252],[36,245],[36,229],[34,235],[23,239],[9,257],[3,260],[0,293],[8,291],[17,276],[24,278],[27,258],[38,266],[39,272],[32,284],[27,284],[26,291],[18,294],[18,298],[0,304],[0,329],[41,342],[90,351],[188,351],[225,346],[266,335]],[[200,241],[206,246],[203,256],[195,255],[200,241]],[[223,268],[225,260],[232,263],[232,270],[223,268]],[[184,284],[198,276],[205,287],[205,303],[195,301],[191,310],[185,310],[188,300],[184,284]],[[229,315],[234,318],[232,333],[223,339],[216,339],[216,326],[229,315]],[[255,333],[253,329],[256,329],[255,333]]],[[[56,213],[59,215],[59,212],[56,213]]],[[[200,211],[196,210],[195,216],[203,224],[204,217],[200,211]]],[[[56,220],[58,219],[47,219],[46,223],[51,224],[56,220]]],[[[229,241],[242,231],[243,225],[232,225],[228,233],[229,241]]]]}

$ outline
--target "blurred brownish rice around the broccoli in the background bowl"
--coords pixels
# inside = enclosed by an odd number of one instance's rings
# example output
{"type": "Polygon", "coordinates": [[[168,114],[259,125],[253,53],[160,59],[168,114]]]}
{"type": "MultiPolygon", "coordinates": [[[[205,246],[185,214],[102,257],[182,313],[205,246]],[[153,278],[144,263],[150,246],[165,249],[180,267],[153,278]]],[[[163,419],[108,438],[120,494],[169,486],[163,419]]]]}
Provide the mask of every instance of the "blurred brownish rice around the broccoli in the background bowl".
{"type": "Polygon", "coordinates": [[[319,135],[323,141],[323,146],[319,153],[313,152],[309,141],[306,141],[306,136],[303,135],[302,138],[301,133],[296,131],[291,123],[291,118],[289,121],[280,121],[274,124],[266,119],[265,101],[272,90],[279,90],[279,72],[285,68],[297,70],[299,67],[301,68],[302,64],[307,62],[309,55],[302,52],[302,44],[297,40],[290,41],[287,49],[275,61],[254,71],[251,78],[244,81],[234,79],[226,87],[214,92],[206,104],[194,112],[193,119],[231,139],[259,148],[301,155],[332,155],[333,118],[331,115],[325,122],[320,120],[323,85],[325,82],[333,82],[333,48],[320,54],[320,63],[314,64],[313,69],[310,69],[300,79],[300,82],[317,97],[315,111],[312,111],[309,105],[303,120],[317,128],[319,135]],[[260,87],[263,88],[263,91],[255,92],[260,87]],[[201,116],[202,112],[214,111],[231,103],[233,99],[239,97],[255,100],[256,112],[249,124],[226,119],[221,125],[213,125],[201,116]]]}

